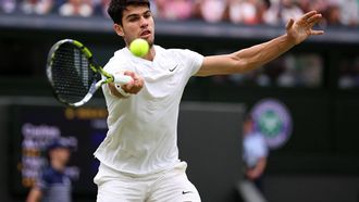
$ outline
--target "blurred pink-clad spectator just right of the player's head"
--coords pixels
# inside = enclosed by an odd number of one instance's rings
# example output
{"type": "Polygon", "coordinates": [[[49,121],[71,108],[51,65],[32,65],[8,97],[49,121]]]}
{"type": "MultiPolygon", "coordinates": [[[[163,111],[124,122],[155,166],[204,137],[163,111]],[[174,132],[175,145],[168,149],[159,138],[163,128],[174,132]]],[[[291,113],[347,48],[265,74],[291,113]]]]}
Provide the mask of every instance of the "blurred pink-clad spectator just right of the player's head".
{"type": "Polygon", "coordinates": [[[193,16],[193,0],[156,0],[158,16],[165,20],[188,20],[193,16]]]}

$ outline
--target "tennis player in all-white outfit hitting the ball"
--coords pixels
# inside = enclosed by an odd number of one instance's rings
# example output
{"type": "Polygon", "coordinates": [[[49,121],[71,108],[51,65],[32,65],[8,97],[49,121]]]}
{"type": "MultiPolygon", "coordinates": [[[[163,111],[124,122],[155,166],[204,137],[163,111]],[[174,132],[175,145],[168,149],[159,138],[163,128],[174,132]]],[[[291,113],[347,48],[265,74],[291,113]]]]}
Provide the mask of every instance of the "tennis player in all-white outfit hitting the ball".
{"type": "MultiPolygon", "coordinates": [[[[315,11],[290,21],[286,34],[269,42],[226,55],[202,56],[189,50],[154,46],[154,22],[147,0],[112,0],[108,12],[126,47],[104,66],[133,81],[102,87],[109,131],[95,152],[101,162],[94,181],[97,201],[200,201],[178,160],[177,116],[181,97],[190,76],[244,73],[277,58],[310,35],[321,18],[315,11]],[[150,45],[144,58],[129,43],[143,38],[150,45]]],[[[200,123],[200,121],[198,121],[200,123]]]]}

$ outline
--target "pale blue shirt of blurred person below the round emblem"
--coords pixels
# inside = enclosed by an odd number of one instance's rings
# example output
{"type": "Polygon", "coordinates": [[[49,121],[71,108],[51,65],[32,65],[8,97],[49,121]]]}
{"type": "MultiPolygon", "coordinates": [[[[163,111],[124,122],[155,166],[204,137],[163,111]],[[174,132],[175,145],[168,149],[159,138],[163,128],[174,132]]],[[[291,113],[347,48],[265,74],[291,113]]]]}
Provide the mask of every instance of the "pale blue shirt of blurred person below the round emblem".
{"type": "Polygon", "coordinates": [[[244,161],[247,167],[255,167],[261,157],[267,157],[269,149],[264,137],[259,134],[248,134],[244,137],[244,161]]]}

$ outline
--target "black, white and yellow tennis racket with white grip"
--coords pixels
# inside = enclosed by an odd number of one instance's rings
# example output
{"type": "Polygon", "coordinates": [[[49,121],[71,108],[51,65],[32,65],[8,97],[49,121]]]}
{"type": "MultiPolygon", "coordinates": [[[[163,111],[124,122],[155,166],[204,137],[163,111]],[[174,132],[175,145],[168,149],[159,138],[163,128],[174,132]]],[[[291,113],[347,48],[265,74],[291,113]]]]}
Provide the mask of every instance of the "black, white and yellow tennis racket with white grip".
{"type": "Polygon", "coordinates": [[[46,72],[55,98],[75,108],[87,103],[104,84],[125,85],[133,80],[129,76],[114,76],[103,71],[89,49],[73,39],[63,39],[52,46],[46,72]]]}

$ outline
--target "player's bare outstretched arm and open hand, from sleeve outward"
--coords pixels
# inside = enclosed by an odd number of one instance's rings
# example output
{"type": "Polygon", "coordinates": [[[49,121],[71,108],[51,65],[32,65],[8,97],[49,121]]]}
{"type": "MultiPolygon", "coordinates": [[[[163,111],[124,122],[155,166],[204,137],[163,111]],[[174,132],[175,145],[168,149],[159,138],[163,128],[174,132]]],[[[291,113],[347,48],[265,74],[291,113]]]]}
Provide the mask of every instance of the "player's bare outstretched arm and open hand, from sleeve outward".
{"type": "Polygon", "coordinates": [[[323,30],[312,29],[321,18],[320,13],[311,11],[298,21],[290,20],[286,25],[286,34],[283,36],[231,54],[206,56],[196,76],[244,73],[257,68],[276,59],[309,36],[322,35],[323,30]]]}

